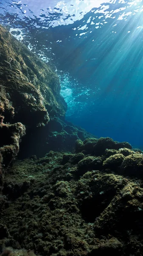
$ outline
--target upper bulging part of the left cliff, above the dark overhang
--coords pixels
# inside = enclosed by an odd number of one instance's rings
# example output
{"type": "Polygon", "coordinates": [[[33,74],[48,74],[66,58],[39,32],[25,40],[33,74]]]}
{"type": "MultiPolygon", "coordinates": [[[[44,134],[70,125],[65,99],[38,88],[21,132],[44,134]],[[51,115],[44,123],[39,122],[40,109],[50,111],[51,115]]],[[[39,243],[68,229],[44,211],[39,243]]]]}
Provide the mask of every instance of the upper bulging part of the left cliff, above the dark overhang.
{"type": "Polygon", "coordinates": [[[2,26],[0,52],[0,114],[6,122],[45,125],[49,116],[64,116],[56,73],[2,26]]]}

